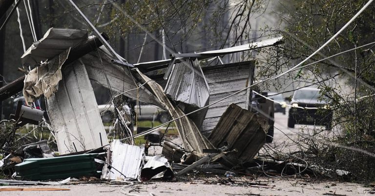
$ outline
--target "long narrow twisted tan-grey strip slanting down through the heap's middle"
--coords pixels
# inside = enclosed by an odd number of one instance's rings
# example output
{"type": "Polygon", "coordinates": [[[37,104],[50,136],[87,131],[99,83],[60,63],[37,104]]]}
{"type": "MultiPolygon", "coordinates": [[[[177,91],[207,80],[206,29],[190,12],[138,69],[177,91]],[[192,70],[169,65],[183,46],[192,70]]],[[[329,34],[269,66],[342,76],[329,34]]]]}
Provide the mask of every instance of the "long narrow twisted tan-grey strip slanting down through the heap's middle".
{"type": "MultiPolygon", "coordinates": [[[[157,84],[155,81],[150,80],[146,75],[137,70],[137,78],[140,81],[146,82],[149,81],[146,85],[152,90],[155,96],[158,98],[159,102],[163,104],[165,108],[173,119],[179,118],[185,113],[179,108],[174,106],[167,95],[164,93],[163,88],[157,84]]],[[[177,131],[179,132],[184,148],[187,151],[194,152],[198,155],[203,154],[203,149],[213,149],[212,144],[204,137],[201,132],[198,130],[194,122],[187,116],[182,117],[175,121],[177,126],[177,131]]]]}

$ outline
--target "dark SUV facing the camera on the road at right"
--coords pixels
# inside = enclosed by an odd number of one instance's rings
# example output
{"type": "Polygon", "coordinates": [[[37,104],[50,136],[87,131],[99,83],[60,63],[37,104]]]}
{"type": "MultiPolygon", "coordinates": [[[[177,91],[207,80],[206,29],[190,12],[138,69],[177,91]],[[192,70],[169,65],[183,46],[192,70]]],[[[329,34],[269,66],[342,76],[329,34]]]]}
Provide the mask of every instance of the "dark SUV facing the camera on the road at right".
{"type": "Polygon", "coordinates": [[[318,88],[306,87],[294,91],[291,105],[288,127],[294,128],[295,124],[322,125],[326,130],[331,130],[333,112],[329,109],[327,98],[321,95],[318,88]]]}

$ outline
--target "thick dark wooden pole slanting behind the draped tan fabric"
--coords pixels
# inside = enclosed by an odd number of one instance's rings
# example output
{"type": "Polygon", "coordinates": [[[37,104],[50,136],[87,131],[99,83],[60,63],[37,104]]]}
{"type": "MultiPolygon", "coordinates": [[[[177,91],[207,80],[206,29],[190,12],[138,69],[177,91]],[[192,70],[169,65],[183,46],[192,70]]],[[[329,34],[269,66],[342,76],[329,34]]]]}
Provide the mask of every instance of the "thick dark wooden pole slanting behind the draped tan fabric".
{"type": "MultiPolygon", "coordinates": [[[[102,33],[102,36],[105,39],[109,39],[106,36],[105,33],[102,33]]],[[[79,46],[73,48],[70,51],[67,60],[65,61],[65,63],[62,66],[72,63],[73,61],[79,59],[80,57],[84,56],[85,54],[88,54],[88,53],[94,51],[96,48],[98,48],[102,45],[103,45],[103,43],[100,41],[100,39],[98,37],[91,38],[91,39],[87,40],[87,42],[85,44],[79,45],[79,46]]],[[[1,87],[0,88],[0,101],[3,101],[5,99],[17,94],[18,92],[22,91],[24,80],[25,80],[25,75],[17,78],[16,80],[12,81],[11,83],[8,83],[4,87],[1,87]]]]}

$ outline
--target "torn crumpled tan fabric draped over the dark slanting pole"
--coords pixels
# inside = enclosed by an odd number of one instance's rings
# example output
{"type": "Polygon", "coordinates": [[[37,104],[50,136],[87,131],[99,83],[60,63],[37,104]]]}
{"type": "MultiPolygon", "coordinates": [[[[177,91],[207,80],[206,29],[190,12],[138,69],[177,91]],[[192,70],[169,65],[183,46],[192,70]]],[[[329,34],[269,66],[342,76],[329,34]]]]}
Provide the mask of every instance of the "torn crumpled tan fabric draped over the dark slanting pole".
{"type": "Polygon", "coordinates": [[[61,66],[68,58],[70,48],[48,62],[31,70],[23,81],[23,96],[27,103],[34,102],[42,94],[49,98],[58,90],[62,79],[61,66]]]}

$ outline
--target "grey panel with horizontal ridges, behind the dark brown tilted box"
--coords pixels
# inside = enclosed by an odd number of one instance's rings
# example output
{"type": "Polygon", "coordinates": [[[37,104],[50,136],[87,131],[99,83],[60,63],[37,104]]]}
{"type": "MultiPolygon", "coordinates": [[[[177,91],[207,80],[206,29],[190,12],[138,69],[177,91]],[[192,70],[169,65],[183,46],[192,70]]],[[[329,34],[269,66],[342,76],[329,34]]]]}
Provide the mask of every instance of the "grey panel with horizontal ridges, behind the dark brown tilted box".
{"type": "MultiPolygon", "coordinates": [[[[254,64],[251,61],[226,65],[203,67],[209,87],[209,102],[213,103],[250,85],[254,64]]],[[[249,109],[250,89],[231,96],[208,108],[201,132],[208,136],[219,122],[227,107],[234,103],[243,109],[249,109]]]]}

